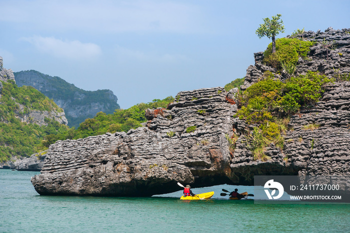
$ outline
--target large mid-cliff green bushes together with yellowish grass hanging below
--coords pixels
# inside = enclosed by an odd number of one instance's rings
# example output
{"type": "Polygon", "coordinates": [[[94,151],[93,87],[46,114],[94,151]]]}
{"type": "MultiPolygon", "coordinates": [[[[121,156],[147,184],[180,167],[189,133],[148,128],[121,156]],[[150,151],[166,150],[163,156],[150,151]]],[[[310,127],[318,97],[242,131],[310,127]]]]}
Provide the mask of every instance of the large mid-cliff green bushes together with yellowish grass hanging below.
{"type": "Polygon", "coordinates": [[[259,124],[247,138],[254,159],[262,160],[267,159],[264,152],[269,143],[283,148],[281,132],[287,130],[288,115],[297,112],[301,106],[314,104],[324,91],[323,86],[332,81],[316,72],[290,77],[285,83],[273,80],[269,73],[265,76],[239,96],[241,108],[235,115],[249,124],[259,124]]]}

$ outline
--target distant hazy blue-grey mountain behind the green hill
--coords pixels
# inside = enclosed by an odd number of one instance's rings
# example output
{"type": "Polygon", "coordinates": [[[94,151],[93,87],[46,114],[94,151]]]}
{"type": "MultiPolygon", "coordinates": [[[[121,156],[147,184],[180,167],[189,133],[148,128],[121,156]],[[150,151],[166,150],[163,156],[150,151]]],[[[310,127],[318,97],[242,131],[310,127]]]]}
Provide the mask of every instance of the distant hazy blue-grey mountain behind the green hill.
{"type": "Polygon", "coordinates": [[[111,90],[83,90],[60,77],[49,76],[35,70],[14,72],[18,86],[33,86],[64,109],[68,125],[78,127],[86,118],[97,112],[113,113],[120,108],[118,98],[111,90]]]}

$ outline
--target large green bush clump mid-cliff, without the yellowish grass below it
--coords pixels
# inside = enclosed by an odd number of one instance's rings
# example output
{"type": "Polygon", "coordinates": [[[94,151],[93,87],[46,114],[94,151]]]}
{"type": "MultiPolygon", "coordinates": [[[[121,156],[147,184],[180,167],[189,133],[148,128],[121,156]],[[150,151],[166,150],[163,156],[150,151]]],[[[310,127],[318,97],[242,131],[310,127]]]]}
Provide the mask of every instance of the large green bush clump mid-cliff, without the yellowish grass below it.
{"type": "Polygon", "coordinates": [[[311,71],[290,77],[285,83],[267,77],[249,86],[239,96],[242,107],[236,116],[248,123],[262,123],[271,121],[273,115],[295,113],[301,106],[316,103],[324,91],[323,86],[331,81],[327,76],[311,71]]]}

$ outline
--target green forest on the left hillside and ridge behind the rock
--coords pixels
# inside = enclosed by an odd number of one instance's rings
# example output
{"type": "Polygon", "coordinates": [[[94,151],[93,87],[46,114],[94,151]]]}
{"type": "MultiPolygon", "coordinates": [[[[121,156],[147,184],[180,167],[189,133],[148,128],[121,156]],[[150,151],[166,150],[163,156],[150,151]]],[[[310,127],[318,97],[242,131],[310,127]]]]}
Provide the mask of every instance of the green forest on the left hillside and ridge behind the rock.
{"type": "Polygon", "coordinates": [[[117,109],[113,114],[98,112],[93,118],[83,121],[77,129],[48,118],[45,118],[47,126],[39,126],[21,122],[16,115],[25,114],[29,109],[41,111],[61,111],[61,109],[33,87],[17,87],[14,82],[1,83],[0,162],[8,160],[11,156],[30,156],[47,149],[57,140],[77,139],[107,131],[128,131],[130,128],[141,126],[140,122],[146,121],[144,117],[146,108],[165,108],[173,101],[173,97],[169,96],[162,100],[154,99],[152,102],[139,103],[128,109],[117,109]],[[24,106],[22,111],[18,103],[24,106]]]}

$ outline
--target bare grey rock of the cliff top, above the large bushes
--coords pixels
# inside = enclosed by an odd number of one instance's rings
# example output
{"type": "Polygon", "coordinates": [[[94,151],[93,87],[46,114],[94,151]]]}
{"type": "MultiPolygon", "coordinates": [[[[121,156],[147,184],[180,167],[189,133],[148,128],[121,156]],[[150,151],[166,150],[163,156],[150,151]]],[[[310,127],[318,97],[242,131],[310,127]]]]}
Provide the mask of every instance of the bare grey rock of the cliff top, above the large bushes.
{"type": "MultiPolygon", "coordinates": [[[[303,40],[316,42],[310,47],[307,59],[299,58],[295,74],[305,74],[307,70],[319,71],[329,77],[338,76],[350,72],[350,29],[334,30],[331,27],[324,32],[320,30],[306,31],[300,35],[303,40]],[[323,43],[333,45],[333,49],[326,48],[323,43]],[[327,55],[328,54],[328,55],[327,55]]],[[[288,37],[288,36],[287,36],[288,37]]],[[[275,74],[275,77],[283,80],[287,77],[285,72],[276,74],[276,69],[265,65],[263,52],[254,53],[255,64],[250,65],[246,70],[244,84],[241,89],[245,90],[252,83],[257,82],[262,73],[269,70],[275,74]]]]}

